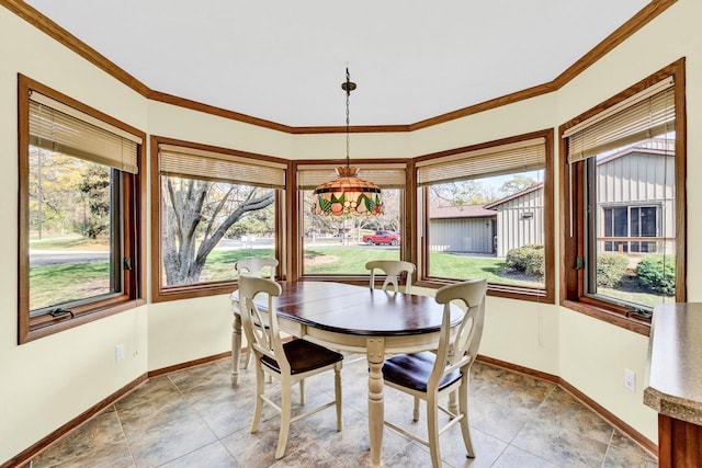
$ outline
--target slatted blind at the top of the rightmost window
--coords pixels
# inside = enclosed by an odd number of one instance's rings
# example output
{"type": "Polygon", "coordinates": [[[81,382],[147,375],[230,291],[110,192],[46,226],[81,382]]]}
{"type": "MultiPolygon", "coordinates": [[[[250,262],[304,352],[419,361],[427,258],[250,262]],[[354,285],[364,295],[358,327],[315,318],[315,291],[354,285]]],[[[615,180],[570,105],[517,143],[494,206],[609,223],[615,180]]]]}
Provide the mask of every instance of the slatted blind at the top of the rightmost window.
{"type": "Polygon", "coordinates": [[[568,162],[633,145],[675,129],[672,77],[668,77],[616,105],[568,128],[568,162]]]}

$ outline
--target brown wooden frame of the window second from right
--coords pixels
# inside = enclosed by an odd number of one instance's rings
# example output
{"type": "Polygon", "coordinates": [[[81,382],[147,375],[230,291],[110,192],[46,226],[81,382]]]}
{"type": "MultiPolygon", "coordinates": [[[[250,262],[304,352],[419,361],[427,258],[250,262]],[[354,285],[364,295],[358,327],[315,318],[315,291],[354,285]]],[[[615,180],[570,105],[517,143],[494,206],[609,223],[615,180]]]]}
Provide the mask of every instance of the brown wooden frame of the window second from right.
{"type": "MultiPolygon", "coordinates": [[[[419,206],[419,196],[417,184],[417,170],[416,163],[419,161],[426,161],[435,158],[442,158],[451,155],[458,155],[468,151],[478,151],[490,147],[505,146],[516,144],[519,141],[525,141],[534,138],[544,138],[545,140],[545,167],[544,167],[544,287],[529,287],[518,285],[506,285],[499,283],[488,283],[487,294],[495,297],[505,297],[510,299],[529,300],[542,304],[555,304],[555,235],[553,226],[555,226],[554,217],[554,130],[552,128],[537,130],[529,134],[517,135],[499,140],[487,141],[479,145],[473,145],[468,147],[455,148],[439,153],[426,155],[412,160],[412,183],[411,183],[411,201],[410,204],[415,206],[415,209],[421,209],[420,218],[423,220],[420,226],[417,227],[418,243],[414,247],[411,258],[418,263],[418,286],[424,287],[441,287],[445,284],[455,283],[458,279],[440,278],[429,275],[429,246],[427,241],[429,239],[429,219],[424,214],[428,210],[427,196],[423,196],[424,206],[419,206]],[[550,228],[550,226],[552,228],[550,228]],[[423,239],[423,240],[422,240],[423,239]]],[[[408,185],[409,187],[410,185],[408,185]]],[[[426,190],[426,189],[424,189],[426,190]]]]}

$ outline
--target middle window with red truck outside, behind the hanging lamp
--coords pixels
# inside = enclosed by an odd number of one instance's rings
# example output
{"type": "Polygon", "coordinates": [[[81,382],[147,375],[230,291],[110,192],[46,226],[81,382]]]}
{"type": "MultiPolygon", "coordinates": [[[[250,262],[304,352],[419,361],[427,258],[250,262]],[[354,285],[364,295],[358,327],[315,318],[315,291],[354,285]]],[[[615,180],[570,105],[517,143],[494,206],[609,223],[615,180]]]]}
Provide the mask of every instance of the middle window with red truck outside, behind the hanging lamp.
{"type": "Polygon", "coordinates": [[[302,212],[299,274],[313,276],[367,275],[370,260],[400,260],[406,250],[406,164],[404,162],[354,164],[360,176],[383,191],[383,214],[377,216],[324,216],[312,213],[313,191],[333,180],[336,165],[298,163],[298,209],[302,212]],[[380,235],[380,232],[384,232],[380,235]]]}

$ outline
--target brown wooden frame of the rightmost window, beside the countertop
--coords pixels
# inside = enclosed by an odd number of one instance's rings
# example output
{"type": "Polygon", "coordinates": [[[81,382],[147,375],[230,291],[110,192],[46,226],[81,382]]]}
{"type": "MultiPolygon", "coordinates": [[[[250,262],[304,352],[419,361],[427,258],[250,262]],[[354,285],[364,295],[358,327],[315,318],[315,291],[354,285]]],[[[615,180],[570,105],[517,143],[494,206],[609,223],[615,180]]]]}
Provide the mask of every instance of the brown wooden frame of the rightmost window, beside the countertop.
{"type": "MultiPolygon", "coordinates": [[[[586,163],[578,161],[568,163],[567,139],[564,133],[587,118],[607,110],[625,99],[660,82],[666,77],[675,80],[676,105],[676,301],[683,303],[687,299],[686,285],[686,180],[687,180],[687,122],[686,122],[686,75],[684,58],[681,58],[664,69],[641,80],[631,88],[610,98],[601,104],[590,109],[584,114],[559,126],[559,178],[561,178],[561,305],[581,313],[595,317],[609,323],[625,328],[636,333],[648,335],[650,319],[639,318],[630,313],[631,308],[586,296],[586,271],[578,267],[578,258],[585,256],[586,244],[586,215],[584,187],[586,178],[586,163]],[[570,167],[573,165],[573,167],[570,167]],[[573,235],[570,235],[573,232],[573,235]]],[[[645,238],[642,238],[645,239],[645,238]]]]}

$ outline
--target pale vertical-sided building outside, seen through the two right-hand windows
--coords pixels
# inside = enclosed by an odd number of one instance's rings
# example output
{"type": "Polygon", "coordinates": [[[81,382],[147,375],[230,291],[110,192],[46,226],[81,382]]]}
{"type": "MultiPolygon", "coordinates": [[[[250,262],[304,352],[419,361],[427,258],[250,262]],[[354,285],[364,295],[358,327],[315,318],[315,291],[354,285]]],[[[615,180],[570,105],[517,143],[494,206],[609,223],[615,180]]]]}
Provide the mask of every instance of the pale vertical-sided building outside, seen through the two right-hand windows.
{"type": "MultiPolygon", "coordinates": [[[[632,256],[675,252],[675,140],[597,160],[597,247],[632,256]]],[[[494,254],[544,243],[543,183],[486,205],[432,208],[431,250],[494,254]]]]}

